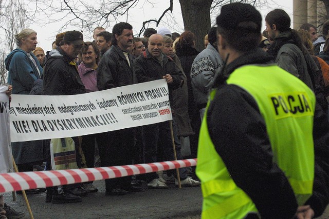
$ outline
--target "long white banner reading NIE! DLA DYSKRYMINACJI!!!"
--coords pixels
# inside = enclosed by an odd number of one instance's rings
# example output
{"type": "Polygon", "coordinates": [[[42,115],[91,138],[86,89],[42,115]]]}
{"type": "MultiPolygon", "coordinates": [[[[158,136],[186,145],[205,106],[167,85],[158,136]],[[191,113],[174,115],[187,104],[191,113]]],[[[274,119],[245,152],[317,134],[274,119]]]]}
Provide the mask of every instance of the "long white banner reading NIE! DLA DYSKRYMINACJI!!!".
{"type": "Polygon", "coordinates": [[[11,141],[81,136],[172,120],[166,79],[70,96],[12,95],[11,141]]]}

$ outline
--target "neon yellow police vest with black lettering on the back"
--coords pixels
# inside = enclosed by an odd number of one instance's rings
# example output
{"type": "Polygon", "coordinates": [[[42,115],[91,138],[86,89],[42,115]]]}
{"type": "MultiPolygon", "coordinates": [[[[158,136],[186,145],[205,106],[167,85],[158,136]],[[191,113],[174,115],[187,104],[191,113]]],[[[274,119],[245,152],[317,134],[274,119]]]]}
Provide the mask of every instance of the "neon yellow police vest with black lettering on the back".
{"type": "MultiPolygon", "coordinates": [[[[312,194],[314,179],[315,96],[312,90],[275,65],[240,67],[230,75],[227,83],[241,87],[254,97],[266,122],[273,162],[284,171],[299,205],[304,204],[312,194]]],[[[215,93],[216,90],[211,92],[208,106],[215,93]]],[[[207,114],[200,129],[196,168],[204,196],[202,216],[243,218],[257,209],[231,179],[211,141],[206,120],[207,114]]]]}

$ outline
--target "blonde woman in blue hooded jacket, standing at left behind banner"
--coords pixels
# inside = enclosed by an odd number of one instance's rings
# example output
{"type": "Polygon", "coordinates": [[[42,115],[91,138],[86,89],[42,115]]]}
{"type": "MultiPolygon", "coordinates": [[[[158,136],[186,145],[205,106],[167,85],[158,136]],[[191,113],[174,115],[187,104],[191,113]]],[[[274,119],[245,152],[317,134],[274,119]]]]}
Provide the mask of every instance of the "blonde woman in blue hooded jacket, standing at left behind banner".
{"type": "MultiPolygon", "coordinates": [[[[34,82],[41,78],[43,69],[32,53],[36,48],[36,32],[24,29],[15,35],[18,48],[9,53],[5,59],[8,70],[8,83],[12,85],[12,94],[30,94],[34,82]]],[[[44,161],[43,141],[14,142],[12,154],[20,172],[33,171],[33,165],[44,161]]],[[[38,189],[26,190],[26,193],[38,193],[38,189]]]]}

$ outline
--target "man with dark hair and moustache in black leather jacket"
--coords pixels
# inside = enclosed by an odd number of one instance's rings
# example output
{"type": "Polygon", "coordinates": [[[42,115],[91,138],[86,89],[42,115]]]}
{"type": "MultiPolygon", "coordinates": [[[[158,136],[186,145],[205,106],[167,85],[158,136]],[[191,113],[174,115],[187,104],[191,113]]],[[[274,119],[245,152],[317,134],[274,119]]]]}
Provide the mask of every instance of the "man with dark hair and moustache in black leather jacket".
{"type": "MultiPolygon", "coordinates": [[[[97,69],[97,86],[106,90],[137,83],[133,73],[132,56],[127,48],[132,46],[133,27],[124,22],[114,25],[112,47],[107,50],[97,69]]],[[[108,132],[106,166],[129,165],[133,163],[134,131],[132,128],[108,132]]],[[[101,149],[102,150],[102,149],[101,149]]],[[[131,177],[105,180],[105,195],[125,195],[127,191],[140,191],[131,184],[131,177]]]]}

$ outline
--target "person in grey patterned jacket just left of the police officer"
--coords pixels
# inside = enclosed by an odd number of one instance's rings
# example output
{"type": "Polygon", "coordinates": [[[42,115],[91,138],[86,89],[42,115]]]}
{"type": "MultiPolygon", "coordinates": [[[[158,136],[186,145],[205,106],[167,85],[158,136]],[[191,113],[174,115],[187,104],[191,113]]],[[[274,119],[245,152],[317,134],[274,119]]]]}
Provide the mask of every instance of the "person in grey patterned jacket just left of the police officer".
{"type": "Polygon", "coordinates": [[[201,120],[206,110],[208,94],[214,83],[214,78],[223,68],[223,60],[216,49],[216,31],[216,27],[209,30],[209,44],[195,57],[191,68],[194,101],[198,106],[201,120]]]}

